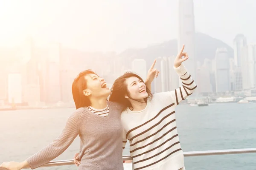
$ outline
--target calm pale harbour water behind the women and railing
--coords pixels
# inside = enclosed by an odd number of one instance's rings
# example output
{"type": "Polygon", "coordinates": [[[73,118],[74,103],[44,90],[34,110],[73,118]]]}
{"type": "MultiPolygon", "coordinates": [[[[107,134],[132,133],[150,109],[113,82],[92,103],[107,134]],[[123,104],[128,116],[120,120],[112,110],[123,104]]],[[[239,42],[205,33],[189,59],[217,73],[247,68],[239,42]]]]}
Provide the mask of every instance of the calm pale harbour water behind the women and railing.
{"type": "MultiPolygon", "coordinates": [[[[75,108],[0,111],[0,162],[23,161],[52,142],[75,108]]],[[[256,147],[256,103],[179,105],[177,129],[183,151],[256,147]]],[[[72,159],[79,138],[55,160],[72,159]]],[[[128,155],[128,148],[124,155],[128,155]]],[[[255,170],[256,154],[186,157],[186,170],[255,170]]],[[[75,166],[48,167],[66,170],[75,166]]]]}

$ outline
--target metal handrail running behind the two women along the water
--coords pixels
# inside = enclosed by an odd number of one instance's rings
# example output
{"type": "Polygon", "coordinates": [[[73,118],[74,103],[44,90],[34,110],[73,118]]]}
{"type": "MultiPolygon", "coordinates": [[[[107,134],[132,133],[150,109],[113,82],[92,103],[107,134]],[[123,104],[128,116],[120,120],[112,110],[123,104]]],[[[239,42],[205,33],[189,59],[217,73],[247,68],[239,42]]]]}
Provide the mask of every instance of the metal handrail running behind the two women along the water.
{"type": "MultiPolygon", "coordinates": [[[[256,153],[256,148],[183,152],[185,157],[228,155],[228,154],[241,154],[241,153],[256,153]]],[[[131,159],[131,156],[127,155],[127,156],[123,156],[123,160],[131,161],[132,159],[131,159]]],[[[41,167],[54,167],[54,166],[72,165],[72,164],[74,164],[74,161],[72,159],[69,159],[69,160],[60,160],[60,161],[50,161],[49,163],[44,164],[41,167]]],[[[24,169],[30,169],[30,167],[26,167],[24,169]]],[[[0,168],[0,170],[4,170],[4,169],[0,168]]]]}

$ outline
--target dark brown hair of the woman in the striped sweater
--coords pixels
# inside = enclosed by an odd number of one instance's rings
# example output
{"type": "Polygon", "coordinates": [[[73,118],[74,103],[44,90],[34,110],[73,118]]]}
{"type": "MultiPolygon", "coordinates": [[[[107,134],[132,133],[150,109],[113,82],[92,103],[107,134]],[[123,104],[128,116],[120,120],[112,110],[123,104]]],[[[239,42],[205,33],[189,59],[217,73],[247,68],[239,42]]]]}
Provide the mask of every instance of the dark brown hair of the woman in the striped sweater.
{"type": "MultiPolygon", "coordinates": [[[[129,102],[129,100],[125,98],[125,94],[127,94],[128,97],[130,97],[129,93],[128,93],[127,84],[125,83],[125,80],[129,77],[137,77],[142,82],[144,82],[143,79],[139,75],[134,74],[132,72],[126,72],[121,77],[118,77],[115,80],[115,82],[114,82],[114,84],[111,88],[111,94],[110,94],[110,97],[109,97],[109,101],[117,102],[117,103],[121,104],[124,107],[123,111],[127,107],[131,108],[131,110],[133,109],[133,107],[131,105],[131,102],[129,102]]],[[[147,102],[148,98],[152,98],[152,96],[153,96],[153,94],[151,93],[151,91],[147,87],[146,87],[146,92],[148,93],[148,97],[144,98],[145,102],[147,102]]]]}

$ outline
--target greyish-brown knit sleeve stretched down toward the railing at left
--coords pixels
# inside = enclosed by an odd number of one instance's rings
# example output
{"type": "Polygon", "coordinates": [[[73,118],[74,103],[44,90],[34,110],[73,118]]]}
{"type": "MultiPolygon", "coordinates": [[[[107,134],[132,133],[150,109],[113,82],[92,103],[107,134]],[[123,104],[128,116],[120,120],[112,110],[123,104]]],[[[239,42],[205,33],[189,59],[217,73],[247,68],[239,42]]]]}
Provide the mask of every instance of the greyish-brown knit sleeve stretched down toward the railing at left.
{"type": "Polygon", "coordinates": [[[38,153],[35,153],[33,156],[29,157],[26,160],[29,163],[31,169],[40,167],[41,165],[48,163],[52,159],[55,159],[70,146],[70,144],[74,141],[79,133],[76,121],[76,114],[73,113],[68,118],[64,130],[62,130],[62,133],[47,147],[44,147],[38,153]]]}

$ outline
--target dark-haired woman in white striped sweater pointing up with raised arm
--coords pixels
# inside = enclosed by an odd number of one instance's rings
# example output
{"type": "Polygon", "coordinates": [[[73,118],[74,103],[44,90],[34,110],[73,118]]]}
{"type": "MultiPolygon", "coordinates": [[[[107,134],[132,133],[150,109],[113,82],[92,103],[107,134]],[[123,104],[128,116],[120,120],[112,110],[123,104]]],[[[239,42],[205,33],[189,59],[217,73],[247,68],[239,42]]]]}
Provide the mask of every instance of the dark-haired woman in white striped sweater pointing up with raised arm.
{"type": "MultiPolygon", "coordinates": [[[[183,85],[174,91],[153,96],[143,79],[132,73],[124,74],[113,84],[109,100],[125,106],[121,113],[123,149],[128,141],[134,170],[185,170],[175,107],[197,86],[182,64],[189,58],[183,49],[184,45],[174,62],[183,85]]],[[[154,76],[150,79],[149,82],[154,76]]]]}

